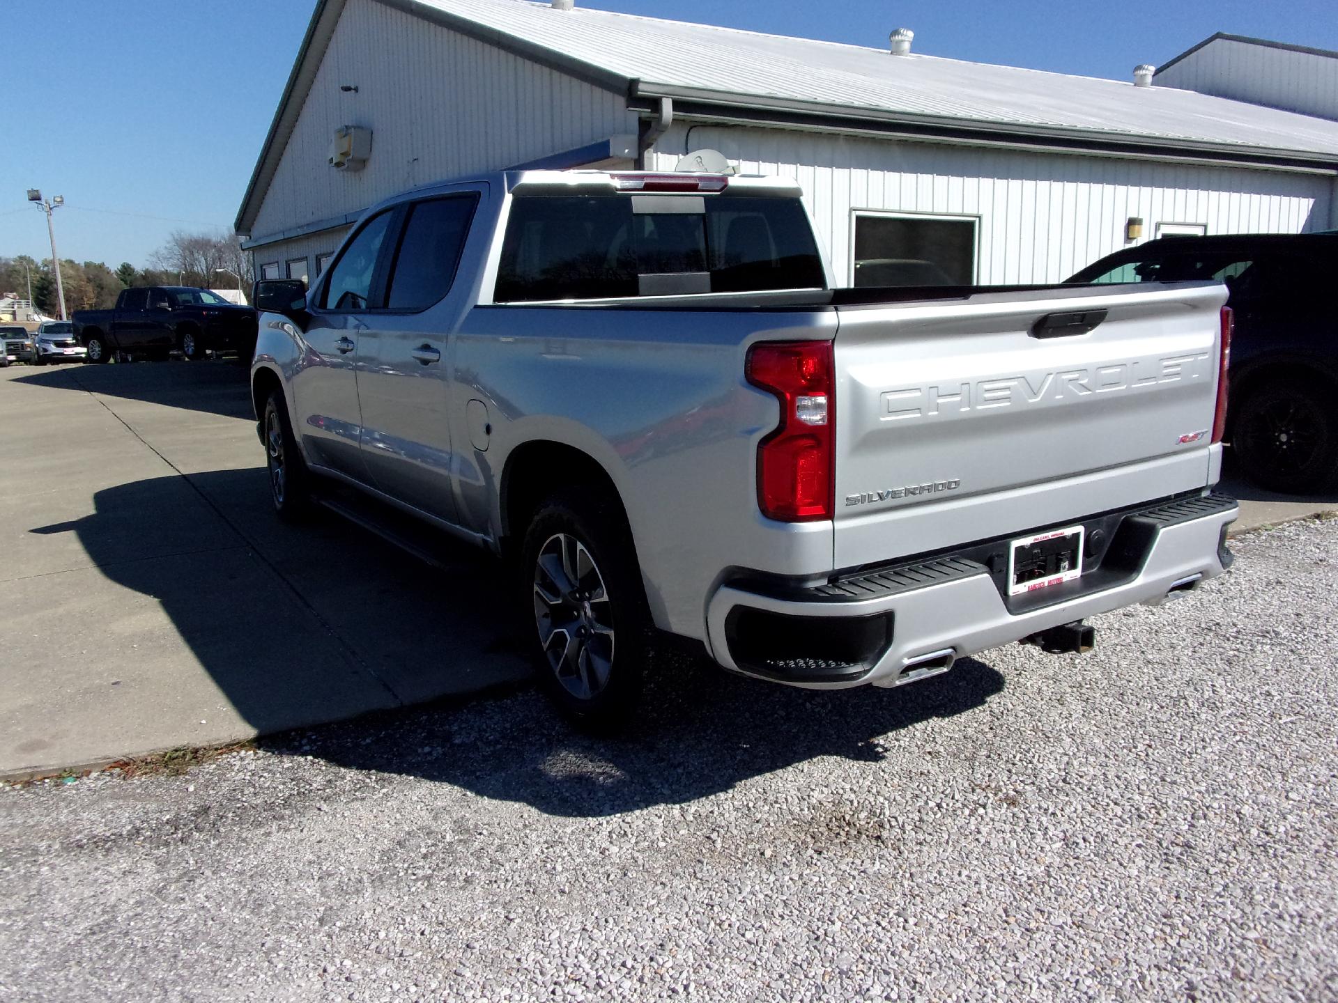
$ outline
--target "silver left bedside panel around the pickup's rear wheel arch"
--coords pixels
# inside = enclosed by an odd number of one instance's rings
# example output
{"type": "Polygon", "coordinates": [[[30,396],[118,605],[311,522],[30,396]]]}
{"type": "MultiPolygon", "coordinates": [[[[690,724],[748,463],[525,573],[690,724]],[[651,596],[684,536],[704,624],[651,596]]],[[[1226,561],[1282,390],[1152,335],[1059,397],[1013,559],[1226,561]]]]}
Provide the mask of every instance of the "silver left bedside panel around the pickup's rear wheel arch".
{"type": "Polygon", "coordinates": [[[723,570],[831,567],[831,523],[773,523],[757,508],[757,443],[779,404],[747,382],[744,361],[756,341],[835,329],[830,310],[475,308],[454,346],[451,424],[463,431],[480,400],[494,433],[487,451],[467,439],[455,451],[462,516],[500,536],[508,456],[530,441],[581,449],[618,489],[656,622],[702,637],[723,570]]]}

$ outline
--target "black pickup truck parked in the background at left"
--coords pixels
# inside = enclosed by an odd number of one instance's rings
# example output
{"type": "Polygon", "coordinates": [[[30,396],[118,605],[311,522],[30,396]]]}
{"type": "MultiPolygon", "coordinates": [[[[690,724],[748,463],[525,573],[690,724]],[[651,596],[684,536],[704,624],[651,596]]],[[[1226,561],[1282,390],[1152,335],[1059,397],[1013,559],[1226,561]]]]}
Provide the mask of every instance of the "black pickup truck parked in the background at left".
{"type": "Polygon", "coordinates": [[[217,293],[191,286],[123,289],[111,310],[75,310],[75,338],[88,349],[88,362],[114,356],[167,358],[181,352],[235,352],[250,361],[256,350],[256,310],[217,293]]]}

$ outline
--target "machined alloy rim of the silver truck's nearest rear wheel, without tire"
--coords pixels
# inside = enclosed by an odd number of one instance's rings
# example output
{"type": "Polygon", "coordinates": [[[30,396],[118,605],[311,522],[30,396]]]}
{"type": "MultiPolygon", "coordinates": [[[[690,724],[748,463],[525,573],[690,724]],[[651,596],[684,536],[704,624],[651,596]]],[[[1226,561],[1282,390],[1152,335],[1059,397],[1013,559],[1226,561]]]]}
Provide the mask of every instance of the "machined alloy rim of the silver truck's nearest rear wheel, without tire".
{"type": "Polygon", "coordinates": [[[539,548],[534,619],[563,689],[577,699],[599,694],[613,670],[613,604],[594,556],[570,534],[554,534],[539,548]]]}

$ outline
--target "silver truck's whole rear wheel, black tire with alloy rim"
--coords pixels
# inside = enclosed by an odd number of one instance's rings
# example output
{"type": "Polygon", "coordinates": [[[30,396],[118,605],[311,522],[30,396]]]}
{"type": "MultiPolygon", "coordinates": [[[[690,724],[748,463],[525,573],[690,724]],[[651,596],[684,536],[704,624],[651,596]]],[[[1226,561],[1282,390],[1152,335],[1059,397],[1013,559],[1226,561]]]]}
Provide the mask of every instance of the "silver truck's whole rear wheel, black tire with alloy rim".
{"type": "Polygon", "coordinates": [[[650,617],[632,532],[605,492],[545,499],[520,548],[522,611],[539,682],[571,718],[598,730],[630,722],[650,654],[650,617]]]}

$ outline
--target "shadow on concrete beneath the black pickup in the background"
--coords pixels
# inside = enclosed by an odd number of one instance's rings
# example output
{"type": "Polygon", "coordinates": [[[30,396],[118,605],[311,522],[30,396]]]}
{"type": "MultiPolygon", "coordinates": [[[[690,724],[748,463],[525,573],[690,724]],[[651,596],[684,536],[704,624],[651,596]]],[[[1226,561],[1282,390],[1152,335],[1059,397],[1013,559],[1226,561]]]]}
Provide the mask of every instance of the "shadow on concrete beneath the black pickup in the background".
{"type": "Polygon", "coordinates": [[[15,382],[140,400],[223,417],[254,419],[250,369],[233,360],[64,364],[35,368],[15,382]]]}

